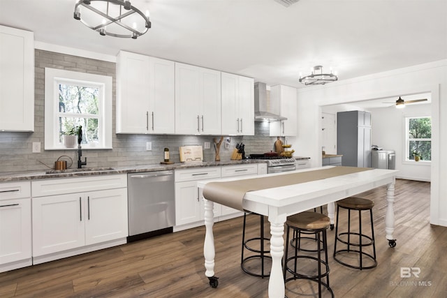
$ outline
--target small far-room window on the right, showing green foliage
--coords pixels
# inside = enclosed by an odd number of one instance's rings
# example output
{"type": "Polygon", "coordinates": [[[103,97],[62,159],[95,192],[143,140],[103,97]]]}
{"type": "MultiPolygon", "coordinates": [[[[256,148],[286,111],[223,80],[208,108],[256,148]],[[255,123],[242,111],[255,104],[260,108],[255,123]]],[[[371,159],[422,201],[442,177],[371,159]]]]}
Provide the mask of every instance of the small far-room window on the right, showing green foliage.
{"type": "Polygon", "coordinates": [[[406,117],[406,161],[432,160],[432,119],[431,117],[406,117]]]}

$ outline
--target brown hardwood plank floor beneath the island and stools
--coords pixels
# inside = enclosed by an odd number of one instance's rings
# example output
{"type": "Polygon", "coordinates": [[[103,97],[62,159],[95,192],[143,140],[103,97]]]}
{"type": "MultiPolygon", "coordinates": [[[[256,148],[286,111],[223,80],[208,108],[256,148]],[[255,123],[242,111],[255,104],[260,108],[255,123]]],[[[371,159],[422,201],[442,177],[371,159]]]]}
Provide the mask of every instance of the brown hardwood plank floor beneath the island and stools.
{"type": "MultiPolygon", "coordinates": [[[[335,262],[334,231],[328,230],[335,297],[447,297],[447,228],[429,223],[430,183],[399,179],[395,194],[395,248],[385,239],[386,188],[362,194],[375,202],[376,268],[335,262]],[[420,274],[401,278],[402,267],[420,268],[420,274]]],[[[258,216],[247,223],[256,234],[258,216]]],[[[205,277],[201,227],[0,273],[0,297],[268,297],[268,278],[240,269],[241,232],[242,218],[214,225],[218,288],[205,277]]]]}

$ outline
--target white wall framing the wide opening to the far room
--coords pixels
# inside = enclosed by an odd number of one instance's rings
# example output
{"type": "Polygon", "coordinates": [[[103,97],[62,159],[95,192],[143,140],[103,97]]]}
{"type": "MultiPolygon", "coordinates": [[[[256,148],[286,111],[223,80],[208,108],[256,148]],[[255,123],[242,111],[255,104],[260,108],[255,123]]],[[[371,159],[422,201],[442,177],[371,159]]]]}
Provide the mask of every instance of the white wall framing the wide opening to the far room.
{"type": "Polygon", "coordinates": [[[321,106],[360,100],[432,94],[432,166],[430,222],[447,226],[447,60],[390,70],[322,87],[298,89],[298,135],[295,148],[311,157],[312,166],[321,165],[321,106]]]}

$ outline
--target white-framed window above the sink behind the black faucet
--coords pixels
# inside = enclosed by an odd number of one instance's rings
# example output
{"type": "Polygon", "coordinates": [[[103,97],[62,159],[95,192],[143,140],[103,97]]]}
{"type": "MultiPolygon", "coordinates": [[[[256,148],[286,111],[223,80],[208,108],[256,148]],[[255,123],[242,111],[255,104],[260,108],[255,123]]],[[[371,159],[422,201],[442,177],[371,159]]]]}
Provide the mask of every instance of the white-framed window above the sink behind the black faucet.
{"type": "Polygon", "coordinates": [[[112,77],[45,68],[45,150],[78,126],[82,149],[112,148],[112,77]]]}

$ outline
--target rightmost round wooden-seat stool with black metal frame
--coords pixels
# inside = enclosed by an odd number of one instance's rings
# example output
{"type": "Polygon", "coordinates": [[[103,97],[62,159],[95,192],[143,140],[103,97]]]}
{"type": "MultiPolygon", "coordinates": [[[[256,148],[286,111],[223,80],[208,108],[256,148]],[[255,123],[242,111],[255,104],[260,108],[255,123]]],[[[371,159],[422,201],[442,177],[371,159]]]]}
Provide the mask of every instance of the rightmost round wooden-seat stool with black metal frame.
{"type": "Polygon", "coordinates": [[[377,266],[372,207],[374,207],[374,202],[365,198],[350,197],[337,202],[337,226],[335,228],[334,259],[340,264],[360,270],[371,269],[377,266]],[[348,210],[348,232],[338,232],[340,208],[348,210]],[[351,210],[358,210],[358,232],[351,232],[351,210]],[[371,236],[362,234],[362,211],[367,210],[369,210],[369,216],[371,218],[371,236]],[[358,241],[353,241],[353,238],[358,238],[358,241]],[[346,244],[347,248],[337,250],[337,242],[346,244]],[[358,247],[358,250],[356,250],[356,248],[353,249],[351,246],[358,247]],[[365,246],[372,246],[372,255],[364,251],[363,248],[365,246]],[[349,264],[346,262],[348,258],[343,260],[341,259],[342,255],[349,253],[358,253],[359,265],[349,264]],[[365,260],[369,259],[369,265],[364,265],[363,257],[366,257],[365,260]]]}

